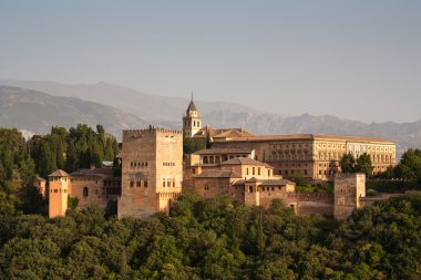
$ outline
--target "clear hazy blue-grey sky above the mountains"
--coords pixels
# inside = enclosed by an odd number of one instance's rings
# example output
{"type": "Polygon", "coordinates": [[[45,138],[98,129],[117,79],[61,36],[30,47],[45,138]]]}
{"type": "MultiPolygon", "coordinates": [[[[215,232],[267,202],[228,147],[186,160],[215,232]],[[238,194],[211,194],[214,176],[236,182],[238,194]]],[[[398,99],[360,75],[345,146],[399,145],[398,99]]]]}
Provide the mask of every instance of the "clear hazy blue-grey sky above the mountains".
{"type": "Polygon", "coordinates": [[[0,0],[0,79],[421,118],[421,1],[0,0]]]}

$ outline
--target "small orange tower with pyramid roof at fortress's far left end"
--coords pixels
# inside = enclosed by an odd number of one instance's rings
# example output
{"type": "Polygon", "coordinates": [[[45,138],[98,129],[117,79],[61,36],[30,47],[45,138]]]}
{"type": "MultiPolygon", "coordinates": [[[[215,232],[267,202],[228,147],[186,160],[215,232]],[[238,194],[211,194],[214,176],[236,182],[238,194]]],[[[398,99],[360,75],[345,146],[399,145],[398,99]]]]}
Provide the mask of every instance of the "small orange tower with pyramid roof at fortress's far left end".
{"type": "Polygon", "coordinates": [[[62,217],[68,210],[70,175],[61,169],[49,175],[49,217],[62,217]]]}

